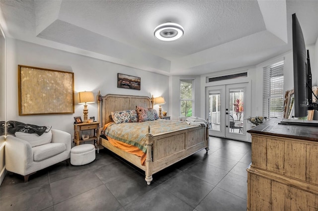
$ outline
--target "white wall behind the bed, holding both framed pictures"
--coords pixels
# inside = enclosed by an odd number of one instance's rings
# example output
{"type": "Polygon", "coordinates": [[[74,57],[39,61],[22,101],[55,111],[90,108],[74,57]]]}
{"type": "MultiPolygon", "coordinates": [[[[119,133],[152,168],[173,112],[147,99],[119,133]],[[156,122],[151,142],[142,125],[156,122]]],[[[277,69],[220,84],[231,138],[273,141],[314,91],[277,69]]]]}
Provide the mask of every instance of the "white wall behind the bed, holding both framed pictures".
{"type": "MultiPolygon", "coordinates": [[[[27,65],[54,70],[74,72],[75,92],[98,90],[106,94],[163,96],[169,107],[169,78],[165,75],[143,71],[107,61],[68,53],[15,39],[7,39],[7,120],[16,120],[35,125],[52,125],[55,129],[73,135],[74,116],[83,116],[83,105],[75,105],[74,114],[63,115],[18,115],[17,65],[27,65]],[[141,90],[117,88],[117,73],[141,77],[141,90]]],[[[88,104],[88,116],[97,119],[97,103],[88,104]]],[[[158,106],[155,106],[158,110],[158,106]]],[[[164,108],[163,108],[164,109],[164,108]]]]}

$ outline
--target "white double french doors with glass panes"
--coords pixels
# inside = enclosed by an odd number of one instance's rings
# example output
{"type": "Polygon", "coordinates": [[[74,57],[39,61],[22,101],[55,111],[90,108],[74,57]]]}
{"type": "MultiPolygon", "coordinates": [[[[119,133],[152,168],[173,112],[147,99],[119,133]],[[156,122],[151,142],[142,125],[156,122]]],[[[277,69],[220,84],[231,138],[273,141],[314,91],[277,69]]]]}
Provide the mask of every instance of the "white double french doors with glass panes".
{"type": "Polygon", "coordinates": [[[250,85],[248,82],[206,88],[206,107],[209,135],[249,141],[246,133],[250,113],[250,85]]]}

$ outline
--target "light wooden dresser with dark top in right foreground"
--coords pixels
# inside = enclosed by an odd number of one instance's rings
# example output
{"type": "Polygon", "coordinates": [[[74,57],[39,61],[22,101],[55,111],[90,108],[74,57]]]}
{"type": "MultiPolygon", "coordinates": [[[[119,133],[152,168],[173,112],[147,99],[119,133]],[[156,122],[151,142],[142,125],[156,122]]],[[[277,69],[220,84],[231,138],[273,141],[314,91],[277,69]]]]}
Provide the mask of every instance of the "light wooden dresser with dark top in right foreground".
{"type": "Polygon", "coordinates": [[[271,119],[247,131],[247,211],[318,211],[318,127],[271,119]]]}

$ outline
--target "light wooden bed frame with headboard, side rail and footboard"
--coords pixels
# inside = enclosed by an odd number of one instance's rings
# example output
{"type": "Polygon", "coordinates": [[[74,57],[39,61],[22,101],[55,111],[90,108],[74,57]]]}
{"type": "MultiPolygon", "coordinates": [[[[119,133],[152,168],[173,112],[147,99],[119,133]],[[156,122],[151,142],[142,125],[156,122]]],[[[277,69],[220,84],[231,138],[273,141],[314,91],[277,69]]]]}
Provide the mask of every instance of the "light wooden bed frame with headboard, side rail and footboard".
{"type": "MultiPolygon", "coordinates": [[[[111,121],[111,111],[136,109],[136,106],[153,107],[154,98],[128,95],[98,95],[98,121],[101,128],[111,121]]],[[[168,120],[167,120],[168,121],[168,120]]],[[[140,157],[120,150],[111,145],[108,140],[100,138],[99,144],[118,156],[145,171],[146,182],[150,185],[153,174],[187,158],[194,153],[209,150],[208,128],[204,126],[190,127],[172,132],[151,134],[148,127],[146,165],[141,165],[140,157]]]]}

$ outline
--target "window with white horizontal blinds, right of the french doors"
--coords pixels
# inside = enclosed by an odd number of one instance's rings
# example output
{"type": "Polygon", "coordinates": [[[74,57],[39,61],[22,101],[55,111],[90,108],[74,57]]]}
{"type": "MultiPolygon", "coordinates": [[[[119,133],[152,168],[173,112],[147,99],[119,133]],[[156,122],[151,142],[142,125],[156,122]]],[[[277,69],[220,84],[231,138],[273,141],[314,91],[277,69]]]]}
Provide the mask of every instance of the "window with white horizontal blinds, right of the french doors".
{"type": "Polygon", "coordinates": [[[284,61],[263,68],[263,116],[284,116],[284,61]]]}

